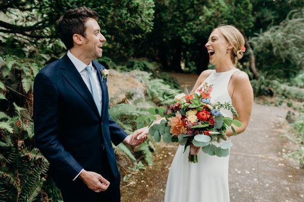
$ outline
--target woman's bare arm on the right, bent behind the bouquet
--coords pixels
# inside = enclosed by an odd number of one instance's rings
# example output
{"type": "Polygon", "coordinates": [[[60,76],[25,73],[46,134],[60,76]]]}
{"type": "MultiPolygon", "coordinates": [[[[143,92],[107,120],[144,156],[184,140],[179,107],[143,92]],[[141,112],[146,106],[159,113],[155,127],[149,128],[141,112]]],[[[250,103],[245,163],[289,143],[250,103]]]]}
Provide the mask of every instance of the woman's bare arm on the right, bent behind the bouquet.
{"type": "MultiPolygon", "coordinates": [[[[237,119],[242,123],[241,127],[237,127],[235,125],[233,125],[233,127],[236,129],[237,134],[240,134],[245,131],[249,123],[253,107],[253,90],[248,75],[245,72],[235,74],[233,86],[234,92],[232,96],[232,104],[239,115],[239,117],[234,117],[234,119],[237,119]]],[[[226,131],[226,135],[233,135],[231,128],[226,131]]]]}

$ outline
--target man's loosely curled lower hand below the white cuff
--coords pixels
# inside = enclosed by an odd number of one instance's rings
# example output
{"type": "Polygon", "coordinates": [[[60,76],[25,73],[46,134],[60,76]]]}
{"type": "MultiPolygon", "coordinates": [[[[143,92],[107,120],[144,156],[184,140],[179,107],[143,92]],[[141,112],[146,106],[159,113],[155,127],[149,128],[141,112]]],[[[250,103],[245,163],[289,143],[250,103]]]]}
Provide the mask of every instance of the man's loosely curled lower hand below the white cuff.
{"type": "Polygon", "coordinates": [[[96,192],[105,191],[110,185],[109,181],[95,172],[83,170],[79,177],[90,189],[96,192]]]}

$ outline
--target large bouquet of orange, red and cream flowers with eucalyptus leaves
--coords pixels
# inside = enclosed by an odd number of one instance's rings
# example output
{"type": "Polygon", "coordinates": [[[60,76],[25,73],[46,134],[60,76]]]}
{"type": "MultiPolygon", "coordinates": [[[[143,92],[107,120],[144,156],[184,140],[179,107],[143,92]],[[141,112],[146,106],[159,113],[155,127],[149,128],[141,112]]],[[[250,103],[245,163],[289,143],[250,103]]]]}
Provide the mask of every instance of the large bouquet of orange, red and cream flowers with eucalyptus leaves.
{"type": "MultiPolygon", "coordinates": [[[[171,92],[172,96],[176,94],[171,89],[165,90],[171,92]]],[[[163,141],[166,143],[178,142],[180,145],[184,145],[184,151],[187,146],[193,144],[202,147],[204,153],[208,155],[226,157],[229,155],[232,143],[225,141],[227,139],[225,132],[227,128],[231,127],[236,135],[236,130],[232,124],[237,127],[241,127],[242,124],[240,121],[224,117],[220,113],[220,109],[226,109],[238,117],[235,108],[230,103],[212,104],[211,91],[212,85],[208,85],[206,82],[194,95],[188,94],[185,88],[184,93],[175,95],[174,103],[167,110],[150,108],[149,115],[139,117],[136,120],[137,128],[149,124],[149,134],[154,136],[156,142],[159,142],[163,137],[163,141]],[[165,119],[161,120],[160,123],[154,123],[157,116],[165,119]],[[212,142],[218,142],[220,146],[216,146],[212,142]]],[[[189,152],[188,160],[197,163],[198,156],[189,152]]]]}

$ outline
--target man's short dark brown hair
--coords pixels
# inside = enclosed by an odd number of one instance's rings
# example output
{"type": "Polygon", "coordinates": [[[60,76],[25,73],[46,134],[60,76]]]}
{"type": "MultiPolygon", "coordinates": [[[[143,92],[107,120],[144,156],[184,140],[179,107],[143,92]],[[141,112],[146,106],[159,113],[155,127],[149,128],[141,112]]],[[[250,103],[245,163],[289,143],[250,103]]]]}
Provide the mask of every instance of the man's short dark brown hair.
{"type": "Polygon", "coordinates": [[[98,14],[90,8],[69,9],[58,21],[58,35],[67,49],[73,47],[73,35],[86,36],[85,22],[88,18],[97,20],[98,14]]]}

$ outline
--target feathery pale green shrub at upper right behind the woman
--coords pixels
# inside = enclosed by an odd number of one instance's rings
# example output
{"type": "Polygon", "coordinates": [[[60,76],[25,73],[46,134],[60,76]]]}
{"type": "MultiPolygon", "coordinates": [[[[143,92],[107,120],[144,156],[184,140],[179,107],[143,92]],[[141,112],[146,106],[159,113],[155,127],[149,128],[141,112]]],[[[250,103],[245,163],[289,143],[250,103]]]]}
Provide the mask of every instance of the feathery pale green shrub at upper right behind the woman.
{"type": "Polygon", "coordinates": [[[250,39],[256,66],[268,79],[292,78],[304,66],[304,10],[250,39]]]}

